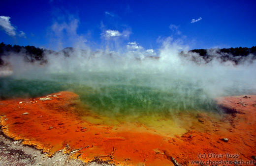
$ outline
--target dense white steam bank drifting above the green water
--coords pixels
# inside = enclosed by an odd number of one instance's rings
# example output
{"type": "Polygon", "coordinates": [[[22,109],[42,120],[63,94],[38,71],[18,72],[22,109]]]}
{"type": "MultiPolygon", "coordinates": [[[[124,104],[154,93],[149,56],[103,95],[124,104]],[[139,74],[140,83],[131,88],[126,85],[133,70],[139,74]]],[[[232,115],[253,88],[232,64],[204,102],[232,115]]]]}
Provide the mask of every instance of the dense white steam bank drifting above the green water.
{"type": "MultiPolygon", "coordinates": [[[[25,62],[23,56],[18,55],[8,56],[4,61],[10,64],[12,76],[16,78],[50,79],[50,74],[72,74],[76,76],[76,81],[82,83],[89,81],[88,74],[102,72],[109,77],[122,75],[126,78],[125,84],[131,84],[133,79],[139,79],[136,77],[142,74],[148,77],[149,82],[140,82],[145,86],[157,86],[167,90],[173,88],[173,81],[188,82],[212,97],[228,95],[226,91],[256,89],[255,62],[245,60],[243,64],[234,65],[229,61],[221,62],[218,59],[220,55],[211,52],[216,59],[205,64],[196,53],[182,57],[179,54],[181,50],[178,49],[181,47],[184,46],[179,46],[171,38],[167,38],[163,41],[158,56],[154,57],[150,57],[156,55],[154,50],[144,50],[136,42],[129,42],[128,50],[122,53],[70,49],[68,57],[64,54],[46,54],[48,63],[44,65],[39,62],[25,62]],[[200,64],[194,63],[192,58],[196,58],[200,64]]],[[[111,79],[108,81],[93,84],[118,84],[111,79]]]]}

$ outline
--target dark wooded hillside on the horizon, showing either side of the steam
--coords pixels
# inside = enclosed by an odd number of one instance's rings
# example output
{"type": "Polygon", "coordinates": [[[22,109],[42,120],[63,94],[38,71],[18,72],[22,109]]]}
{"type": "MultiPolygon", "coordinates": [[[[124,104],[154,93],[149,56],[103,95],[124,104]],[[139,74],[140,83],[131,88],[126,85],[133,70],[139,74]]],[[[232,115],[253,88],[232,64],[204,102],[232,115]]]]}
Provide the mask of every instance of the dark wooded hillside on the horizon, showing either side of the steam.
{"type": "MultiPolygon", "coordinates": [[[[79,52],[83,54],[87,54],[88,52],[86,50],[78,50],[79,52]]],[[[0,66],[8,65],[6,62],[3,61],[4,56],[9,56],[11,54],[16,54],[18,56],[23,56],[24,60],[26,62],[39,62],[41,65],[46,64],[48,62],[45,55],[47,54],[62,54],[65,57],[69,57],[70,54],[73,54],[75,52],[75,48],[72,47],[66,47],[63,50],[56,52],[53,50],[43,49],[43,48],[37,48],[34,46],[11,46],[6,45],[4,43],[0,43],[0,66]]],[[[94,52],[96,53],[96,52],[94,52]]],[[[92,52],[92,55],[94,55],[92,52]]],[[[185,56],[195,63],[202,63],[201,59],[204,61],[204,63],[209,63],[213,59],[219,59],[221,62],[231,61],[234,64],[239,64],[245,61],[245,59],[256,59],[256,47],[237,47],[237,48],[211,48],[211,49],[193,49],[190,51],[182,51],[180,53],[181,56],[185,56]],[[200,60],[198,60],[200,58],[200,60]]],[[[156,58],[158,57],[150,57],[150,58],[156,58]]]]}

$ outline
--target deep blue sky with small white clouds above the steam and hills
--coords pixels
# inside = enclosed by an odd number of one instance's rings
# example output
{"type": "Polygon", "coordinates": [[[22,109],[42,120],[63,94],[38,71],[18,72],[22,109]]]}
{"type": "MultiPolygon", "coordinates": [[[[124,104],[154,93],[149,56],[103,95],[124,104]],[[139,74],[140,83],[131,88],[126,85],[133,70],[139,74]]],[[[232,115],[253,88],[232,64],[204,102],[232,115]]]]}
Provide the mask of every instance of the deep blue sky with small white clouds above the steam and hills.
{"type": "Polygon", "coordinates": [[[256,0],[4,0],[0,42],[60,50],[256,46],[256,0]]]}

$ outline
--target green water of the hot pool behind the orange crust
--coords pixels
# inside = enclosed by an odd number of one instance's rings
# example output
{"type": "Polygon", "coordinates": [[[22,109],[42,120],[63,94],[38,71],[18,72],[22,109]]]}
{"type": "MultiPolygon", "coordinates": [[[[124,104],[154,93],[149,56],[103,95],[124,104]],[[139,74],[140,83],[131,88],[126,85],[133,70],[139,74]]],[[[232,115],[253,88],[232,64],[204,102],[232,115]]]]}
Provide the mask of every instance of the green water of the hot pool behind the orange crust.
{"type": "Polygon", "coordinates": [[[40,79],[0,78],[1,99],[71,91],[99,115],[165,115],[188,110],[216,111],[198,82],[149,74],[54,74],[40,79]]]}

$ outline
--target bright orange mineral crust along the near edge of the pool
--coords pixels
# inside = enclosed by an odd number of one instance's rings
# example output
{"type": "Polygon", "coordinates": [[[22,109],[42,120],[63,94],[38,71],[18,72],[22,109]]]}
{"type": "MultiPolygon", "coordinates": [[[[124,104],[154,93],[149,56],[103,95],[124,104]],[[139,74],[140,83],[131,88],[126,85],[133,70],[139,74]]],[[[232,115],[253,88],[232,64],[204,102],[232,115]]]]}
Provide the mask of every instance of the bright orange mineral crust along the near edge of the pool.
{"type": "MultiPolygon", "coordinates": [[[[146,125],[104,125],[81,120],[79,96],[59,92],[0,101],[2,131],[48,152],[64,149],[86,162],[101,158],[117,165],[183,166],[192,161],[253,161],[256,156],[256,96],[217,98],[221,119],[198,113],[190,130],[171,137],[146,125]],[[250,98],[249,98],[250,97],[250,98]]],[[[87,116],[96,116],[82,110],[87,116]]],[[[228,165],[204,163],[203,165],[228,165]]],[[[229,165],[233,165],[229,164],[229,165]]],[[[242,165],[242,164],[240,164],[242,165]]]]}

